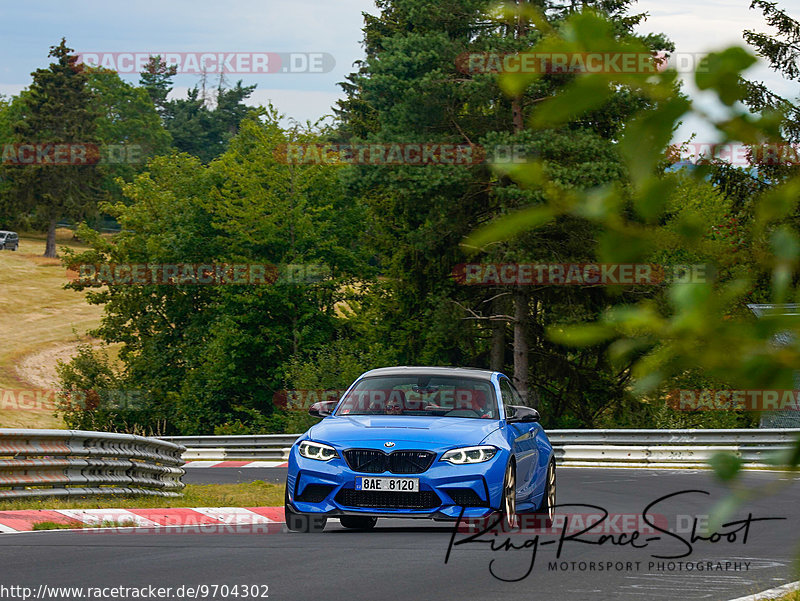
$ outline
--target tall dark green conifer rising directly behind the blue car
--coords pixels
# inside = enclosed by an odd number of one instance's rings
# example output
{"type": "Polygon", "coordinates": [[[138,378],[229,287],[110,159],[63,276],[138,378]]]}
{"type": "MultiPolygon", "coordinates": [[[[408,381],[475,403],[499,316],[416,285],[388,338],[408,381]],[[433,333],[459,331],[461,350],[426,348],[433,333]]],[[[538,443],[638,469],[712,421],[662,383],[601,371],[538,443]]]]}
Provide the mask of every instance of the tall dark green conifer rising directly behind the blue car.
{"type": "MultiPolygon", "coordinates": [[[[637,38],[643,15],[628,14],[628,2],[591,3],[610,17],[611,35],[639,43],[642,52],[671,50],[661,36],[637,38]]],[[[558,30],[574,12],[546,3],[544,16],[521,3],[521,12],[493,12],[492,3],[378,3],[381,14],[366,16],[366,60],[343,84],[342,135],[367,142],[474,144],[490,160],[503,149],[522,148],[542,158],[560,185],[592,188],[624,178],[615,140],[632,114],[650,100],[627,86],[600,87],[582,102],[587,114],[571,121],[549,120],[539,107],[574,79],[547,74],[506,95],[496,73],[464,72],[467,53],[527,50],[558,30]],[[549,121],[530,131],[528,120],[549,121]],[[495,152],[498,149],[499,152],[495,152]]],[[[538,6],[538,4],[536,5],[538,6]]],[[[589,51],[587,44],[572,51],[589,51]]],[[[582,395],[581,384],[605,373],[595,399],[619,399],[626,372],[612,370],[595,349],[567,354],[543,335],[564,313],[596,315],[609,302],[599,291],[526,287],[466,287],[456,284],[454,267],[467,260],[461,240],[494,216],[541,205],[539,190],[517,185],[490,165],[361,167],[352,189],[370,210],[370,239],[385,276],[375,285],[382,305],[381,339],[401,349],[407,363],[467,364],[495,369],[513,366],[517,387],[559,382],[558,395],[582,395]],[[387,176],[387,172],[391,175],[387,176]],[[560,390],[559,390],[560,389],[560,390]]],[[[594,226],[571,216],[546,219],[535,236],[492,244],[470,259],[477,262],[587,261],[595,256],[594,226]]],[[[530,401],[537,402],[537,386],[530,401]]]]}

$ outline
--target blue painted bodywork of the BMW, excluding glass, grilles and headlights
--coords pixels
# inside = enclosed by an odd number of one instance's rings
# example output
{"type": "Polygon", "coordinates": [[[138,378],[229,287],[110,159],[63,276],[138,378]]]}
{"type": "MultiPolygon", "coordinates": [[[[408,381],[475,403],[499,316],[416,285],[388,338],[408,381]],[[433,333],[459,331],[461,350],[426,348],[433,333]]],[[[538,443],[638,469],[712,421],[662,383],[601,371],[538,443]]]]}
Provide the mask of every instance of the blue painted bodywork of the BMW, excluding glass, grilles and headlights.
{"type": "MultiPolygon", "coordinates": [[[[364,377],[363,374],[342,396],[346,398],[364,377]]],[[[491,376],[499,415],[505,415],[500,380],[506,378],[499,372],[491,376]]],[[[338,405],[337,405],[338,409],[338,405]]],[[[384,517],[433,517],[457,519],[461,506],[447,495],[450,488],[471,488],[489,507],[464,508],[465,518],[490,515],[502,506],[503,481],[508,462],[513,458],[517,474],[517,512],[535,511],[545,494],[547,467],[553,458],[553,448],[544,429],[537,422],[509,424],[501,419],[473,419],[458,417],[351,415],[325,417],[319,424],[302,434],[289,452],[286,480],[288,500],[295,511],[316,515],[374,515],[384,517]],[[300,455],[302,441],[331,445],[338,456],[330,461],[308,459],[300,455]],[[385,442],[394,442],[392,451],[425,450],[436,453],[436,458],[425,472],[399,477],[419,478],[420,490],[434,490],[442,504],[434,509],[360,508],[339,505],[334,497],[342,488],[353,488],[357,476],[390,476],[392,474],[364,474],[350,469],[342,452],[351,448],[371,448],[386,451],[385,442]],[[498,452],[489,461],[467,465],[452,465],[440,461],[451,449],[493,445],[498,452]],[[309,484],[328,484],[335,488],[318,503],[299,502],[295,496],[302,494],[309,484]]]]}

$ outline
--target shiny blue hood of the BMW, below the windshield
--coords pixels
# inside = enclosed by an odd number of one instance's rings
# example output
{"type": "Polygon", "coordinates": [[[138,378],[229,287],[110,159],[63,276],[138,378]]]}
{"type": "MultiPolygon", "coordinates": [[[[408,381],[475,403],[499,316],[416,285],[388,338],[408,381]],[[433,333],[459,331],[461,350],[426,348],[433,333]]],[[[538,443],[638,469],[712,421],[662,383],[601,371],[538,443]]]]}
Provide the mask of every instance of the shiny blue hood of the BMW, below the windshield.
{"type": "Polygon", "coordinates": [[[308,431],[312,440],[332,444],[380,442],[430,445],[479,444],[497,430],[497,420],[462,417],[353,415],[322,420],[308,431]]]}

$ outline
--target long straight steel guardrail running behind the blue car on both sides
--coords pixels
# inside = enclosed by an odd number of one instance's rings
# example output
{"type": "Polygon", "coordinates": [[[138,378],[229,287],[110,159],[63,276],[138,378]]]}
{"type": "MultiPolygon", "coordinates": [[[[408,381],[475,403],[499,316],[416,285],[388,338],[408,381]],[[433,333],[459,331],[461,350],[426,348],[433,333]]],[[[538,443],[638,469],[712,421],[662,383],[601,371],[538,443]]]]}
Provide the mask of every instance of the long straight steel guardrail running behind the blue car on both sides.
{"type": "MultiPolygon", "coordinates": [[[[718,451],[738,455],[745,466],[769,465],[800,438],[800,429],[752,430],[549,430],[559,464],[607,467],[707,467],[718,451]]],[[[190,460],[285,460],[296,434],[174,436],[190,460]]]]}

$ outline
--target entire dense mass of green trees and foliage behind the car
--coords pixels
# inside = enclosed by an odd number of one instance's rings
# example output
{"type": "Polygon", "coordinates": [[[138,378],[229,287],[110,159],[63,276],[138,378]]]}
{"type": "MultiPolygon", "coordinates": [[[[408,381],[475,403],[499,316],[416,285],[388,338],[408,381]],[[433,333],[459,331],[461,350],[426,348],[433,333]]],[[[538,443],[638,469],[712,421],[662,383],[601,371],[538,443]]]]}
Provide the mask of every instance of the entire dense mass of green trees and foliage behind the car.
{"type": "MultiPolygon", "coordinates": [[[[246,109],[253,88],[241,82],[170,100],[174,70],[158,57],[138,87],[101,70],[80,73],[81,110],[97,113],[93,135],[136,140],[152,158],[98,172],[93,207],[70,216],[100,211],[122,231],[108,237],[82,227],[91,250],[68,252],[65,262],[76,270],[259,264],[274,266],[278,278],[70,284],[104,305],[94,333],[108,346],[83,347],[60,368],[68,424],[298,431],[311,418],[287,408],[291,391],[336,391],[372,367],[432,364],[508,372],[548,427],[754,425],[753,413],[678,412],[667,397],[674,389],[792,387],[795,349],[778,351],[770,337],[796,326],[756,322],[747,304],[796,300],[797,165],[673,168],[669,144],[693,108],[671,69],[464,68],[471,54],[531,49],[672,52],[664,36],[641,33],[645,16],[627,0],[580,10],[559,0],[377,4],[380,13],[366,16],[365,59],[342,84],[333,125],[287,127],[272,107],[246,109]],[[486,160],[287,160],[291,145],[403,143],[465,145],[486,160]],[[465,263],[703,265],[708,277],[465,285],[465,263]],[[322,276],[288,277],[297,266],[322,276]]],[[[747,41],[796,80],[796,21],[772,3],[754,7],[779,33],[747,32],[747,41]]],[[[796,100],[744,79],[753,61],[728,49],[696,74],[725,113],[711,124],[723,141],[796,142],[796,100]]],[[[25,119],[26,94],[0,103],[0,133],[25,119]]]]}

